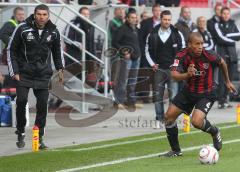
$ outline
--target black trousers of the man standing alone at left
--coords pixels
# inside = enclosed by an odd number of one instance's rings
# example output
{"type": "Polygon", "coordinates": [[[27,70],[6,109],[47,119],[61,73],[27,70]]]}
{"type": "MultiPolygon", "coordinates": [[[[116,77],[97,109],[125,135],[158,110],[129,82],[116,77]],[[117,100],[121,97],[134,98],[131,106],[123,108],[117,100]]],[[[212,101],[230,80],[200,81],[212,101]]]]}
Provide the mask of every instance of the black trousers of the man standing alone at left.
{"type": "MultiPolygon", "coordinates": [[[[25,132],[26,126],[26,104],[28,102],[28,87],[17,87],[17,101],[16,101],[16,118],[17,130],[20,133],[25,132]]],[[[35,125],[39,127],[39,135],[44,135],[44,127],[47,117],[47,102],[48,102],[48,89],[33,89],[33,93],[37,99],[37,114],[35,125]]]]}

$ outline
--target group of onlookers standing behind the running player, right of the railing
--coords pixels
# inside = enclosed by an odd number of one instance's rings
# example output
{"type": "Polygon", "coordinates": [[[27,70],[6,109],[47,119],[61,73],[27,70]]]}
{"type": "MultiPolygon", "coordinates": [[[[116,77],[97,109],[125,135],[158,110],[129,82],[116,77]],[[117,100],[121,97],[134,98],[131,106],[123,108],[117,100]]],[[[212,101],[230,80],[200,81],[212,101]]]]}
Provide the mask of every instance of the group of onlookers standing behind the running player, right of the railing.
{"type": "MultiPolygon", "coordinates": [[[[130,8],[127,12],[121,8],[115,9],[114,18],[109,23],[111,38],[109,44],[119,51],[119,54],[112,58],[114,96],[118,108],[126,108],[129,105],[139,107],[135,101],[136,97],[143,102],[151,102],[153,97],[156,120],[162,120],[165,84],[170,101],[183,86],[183,83],[171,80],[170,65],[173,64],[176,51],[187,46],[191,32],[199,32],[204,40],[204,48],[216,51],[226,61],[230,79],[233,79],[233,70],[237,64],[236,41],[240,40],[240,31],[231,19],[230,8],[217,4],[214,10],[215,14],[211,19],[199,16],[195,22],[191,19],[191,9],[184,6],[181,8],[177,23],[172,24],[171,17],[165,19],[164,15],[161,15],[163,13],[160,5],[152,7],[152,15],[144,11],[140,15],[140,22],[135,16],[137,13],[134,9],[130,8]]],[[[164,10],[165,13],[170,11],[164,10]]],[[[223,82],[223,75],[217,68],[215,70],[218,108],[230,108],[232,105],[228,102],[229,95],[223,82]]]]}

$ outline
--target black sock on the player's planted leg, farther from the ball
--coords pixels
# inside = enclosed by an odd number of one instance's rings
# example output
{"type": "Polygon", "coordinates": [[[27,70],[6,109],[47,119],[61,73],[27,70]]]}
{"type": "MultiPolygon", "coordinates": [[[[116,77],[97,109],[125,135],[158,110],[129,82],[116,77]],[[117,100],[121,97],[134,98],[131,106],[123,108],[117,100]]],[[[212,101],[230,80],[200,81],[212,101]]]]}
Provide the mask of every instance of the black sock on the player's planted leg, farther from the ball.
{"type": "Polygon", "coordinates": [[[178,141],[178,127],[177,123],[174,123],[172,125],[165,124],[166,132],[167,132],[167,138],[168,142],[172,148],[173,151],[180,151],[179,141],[178,141]]]}

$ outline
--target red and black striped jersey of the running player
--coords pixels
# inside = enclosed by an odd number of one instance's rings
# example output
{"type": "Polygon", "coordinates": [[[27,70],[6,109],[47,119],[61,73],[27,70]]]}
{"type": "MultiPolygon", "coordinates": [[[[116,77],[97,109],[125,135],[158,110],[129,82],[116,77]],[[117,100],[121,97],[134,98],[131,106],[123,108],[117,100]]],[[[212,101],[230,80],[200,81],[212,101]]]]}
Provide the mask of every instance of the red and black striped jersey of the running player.
{"type": "Polygon", "coordinates": [[[189,48],[185,48],[177,53],[171,70],[186,73],[188,66],[194,64],[196,74],[186,81],[185,87],[192,93],[208,94],[214,89],[214,71],[220,63],[221,57],[213,51],[203,50],[201,56],[197,57],[189,48]]]}

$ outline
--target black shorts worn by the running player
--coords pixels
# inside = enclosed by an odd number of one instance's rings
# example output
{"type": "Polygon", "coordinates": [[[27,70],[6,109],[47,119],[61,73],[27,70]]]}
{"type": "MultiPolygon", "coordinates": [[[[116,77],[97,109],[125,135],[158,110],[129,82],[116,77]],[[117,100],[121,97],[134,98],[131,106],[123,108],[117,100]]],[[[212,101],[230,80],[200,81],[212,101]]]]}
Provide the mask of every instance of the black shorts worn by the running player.
{"type": "Polygon", "coordinates": [[[194,107],[207,115],[214,101],[208,97],[196,97],[181,91],[174,97],[172,103],[187,115],[192,113],[194,107]]]}

